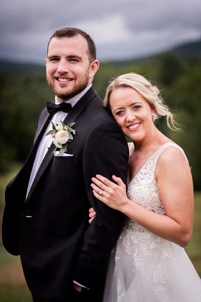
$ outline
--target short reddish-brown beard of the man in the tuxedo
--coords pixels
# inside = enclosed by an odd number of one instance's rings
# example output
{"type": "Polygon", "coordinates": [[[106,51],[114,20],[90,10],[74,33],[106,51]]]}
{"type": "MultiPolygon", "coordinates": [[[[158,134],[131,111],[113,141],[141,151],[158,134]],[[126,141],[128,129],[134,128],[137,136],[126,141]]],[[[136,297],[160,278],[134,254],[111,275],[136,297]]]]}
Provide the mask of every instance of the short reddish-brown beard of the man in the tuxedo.
{"type": "MultiPolygon", "coordinates": [[[[73,78],[72,81],[67,85],[59,85],[54,76],[48,77],[46,73],[46,79],[55,93],[55,95],[60,99],[65,99],[66,101],[73,98],[74,96],[78,95],[80,92],[82,92],[87,86],[89,82],[89,69],[86,70],[86,72],[79,78],[73,78]]],[[[65,76],[65,75],[64,75],[65,76]]]]}

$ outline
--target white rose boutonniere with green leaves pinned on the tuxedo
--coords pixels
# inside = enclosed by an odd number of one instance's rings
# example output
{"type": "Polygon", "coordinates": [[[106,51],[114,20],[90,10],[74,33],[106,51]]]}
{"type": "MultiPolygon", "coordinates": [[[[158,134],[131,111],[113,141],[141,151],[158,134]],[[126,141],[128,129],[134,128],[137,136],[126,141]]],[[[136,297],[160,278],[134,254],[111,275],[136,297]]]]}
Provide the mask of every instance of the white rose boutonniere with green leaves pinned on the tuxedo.
{"type": "Polygon", "coordinates": [[[71,132],[75,134],[75,130],[71,127],[74,125],[74,123],[65,125],[62,121],[60,121],[57,127],[54,125],[53,122],[51,123],[52,130],[48,131],[45,135],[52,135],[54,143],[54,152],[57,148],[60,148],[58,155],[62,156],[65,152],[67,152],[67,142],[73,140],[71,132]]]}

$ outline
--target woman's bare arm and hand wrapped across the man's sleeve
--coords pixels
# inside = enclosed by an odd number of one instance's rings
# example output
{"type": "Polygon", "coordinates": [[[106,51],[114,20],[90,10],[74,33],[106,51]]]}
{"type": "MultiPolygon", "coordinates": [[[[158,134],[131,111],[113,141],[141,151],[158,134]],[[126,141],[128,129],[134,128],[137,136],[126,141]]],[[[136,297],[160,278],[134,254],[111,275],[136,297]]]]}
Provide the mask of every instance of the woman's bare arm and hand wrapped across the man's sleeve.
{"type": "Polygon", "coordinates": [[[192,236],[193,185],[189,167],[179,149],[169,147],[160,155],[155,172],[166,215],[157,214],[131,201],[120,178],[117,185],[103,176],[93,178],[93,194],[108,206],[140,223],[152,233],[185,247],[192,236]],[[103,190],[102,195],[99,194],[103,190]]]}

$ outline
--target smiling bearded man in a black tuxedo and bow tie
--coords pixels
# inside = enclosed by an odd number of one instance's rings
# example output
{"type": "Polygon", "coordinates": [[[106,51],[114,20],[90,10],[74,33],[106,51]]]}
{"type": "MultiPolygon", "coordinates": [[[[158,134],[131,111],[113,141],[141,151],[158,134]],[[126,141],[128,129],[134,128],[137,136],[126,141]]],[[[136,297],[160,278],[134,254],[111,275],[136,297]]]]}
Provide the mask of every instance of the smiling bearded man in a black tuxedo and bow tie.
{"type": "Polygon", "coordinates": [[[3,243],[21,255],[36,302],[102,301],[108,258],[124,223],[90,187],[96,174],[126,183],[128,161],[125,137],[91,85],[97,69],[87,33],[63,28],[53,34],[46,76],[55,102],[41,112],[31,153],[6,189],[3,243]],[[76,131],[63,156],[45,136],[50,121],[60,120],[74,122],[76,131]],[[90,207],[96,217],[89,225],[90,207]]]}

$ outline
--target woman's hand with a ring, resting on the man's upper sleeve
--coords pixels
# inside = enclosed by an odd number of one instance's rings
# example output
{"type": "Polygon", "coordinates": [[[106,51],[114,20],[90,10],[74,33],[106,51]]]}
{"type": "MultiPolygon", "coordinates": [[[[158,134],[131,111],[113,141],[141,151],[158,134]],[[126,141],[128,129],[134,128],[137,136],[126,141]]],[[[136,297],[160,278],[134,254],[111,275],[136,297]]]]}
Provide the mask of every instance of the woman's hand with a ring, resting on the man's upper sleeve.
{"type": "Polygon", "coordinates": [[[129,200],[126,195],[126,186],[121,178],[115,175],[112,178],[117,184],[102,175],[93,177],[93,184],[91,184],[93,195],[113,209],[123,211],[124,205],[129,200]]]}

